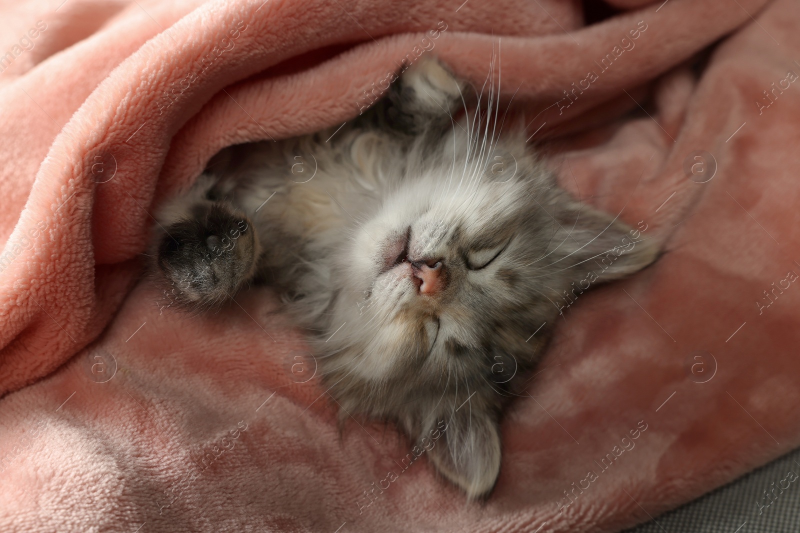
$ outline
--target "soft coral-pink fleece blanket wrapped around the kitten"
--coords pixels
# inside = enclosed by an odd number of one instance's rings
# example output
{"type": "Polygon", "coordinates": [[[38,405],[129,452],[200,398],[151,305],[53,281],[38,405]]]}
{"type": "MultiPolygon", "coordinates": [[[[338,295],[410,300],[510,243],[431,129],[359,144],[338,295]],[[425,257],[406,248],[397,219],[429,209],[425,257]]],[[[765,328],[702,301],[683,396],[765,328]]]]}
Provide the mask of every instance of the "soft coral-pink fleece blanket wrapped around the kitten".
{"type": "Polygon", "coordinates": [[[2,2],[0,530],[614,531],[798,446],[800,6],[608,4],[2,2]],[[218,149],[337,126],[422,54],[498,58],[564,186],[665,250],[565,304],[485,503],[340,435],[270,289],[191,318],[140,277],[218,149]]]}

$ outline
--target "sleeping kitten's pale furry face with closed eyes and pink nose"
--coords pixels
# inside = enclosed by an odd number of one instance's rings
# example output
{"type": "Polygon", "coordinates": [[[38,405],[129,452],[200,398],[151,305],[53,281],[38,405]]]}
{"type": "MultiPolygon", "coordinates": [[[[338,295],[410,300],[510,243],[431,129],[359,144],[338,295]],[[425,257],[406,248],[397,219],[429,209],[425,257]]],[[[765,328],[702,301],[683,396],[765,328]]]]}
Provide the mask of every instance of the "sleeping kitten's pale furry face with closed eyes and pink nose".
{"type": "Polygon", "coordinates": [[[442,368],[454,352],[490,344],[493,323],[508,312],[542,301],[552,308],[523,279],[546,245],[526,223],[530,184],[446,181],[431,175],[398,190],[344,253],[338,310],[369,332],[354,366],[367,380],[423,359],[442,368]]]}

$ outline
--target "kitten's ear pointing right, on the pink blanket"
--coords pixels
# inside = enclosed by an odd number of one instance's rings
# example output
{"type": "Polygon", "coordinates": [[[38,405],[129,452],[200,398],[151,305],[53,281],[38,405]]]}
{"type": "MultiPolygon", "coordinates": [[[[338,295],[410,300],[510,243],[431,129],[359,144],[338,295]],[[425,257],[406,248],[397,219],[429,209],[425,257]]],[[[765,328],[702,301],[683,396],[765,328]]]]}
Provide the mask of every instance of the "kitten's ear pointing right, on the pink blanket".
{"type": "Polygon", "coordinates": [[[559,203],[551,246],[558,247],[557,265],[570,269],[570,279],[588,283],[616,280],[638,272],[658,257],[658,245],[646,237],[644,221],[632,228],[588,205],[572,200],[559,203]]]}

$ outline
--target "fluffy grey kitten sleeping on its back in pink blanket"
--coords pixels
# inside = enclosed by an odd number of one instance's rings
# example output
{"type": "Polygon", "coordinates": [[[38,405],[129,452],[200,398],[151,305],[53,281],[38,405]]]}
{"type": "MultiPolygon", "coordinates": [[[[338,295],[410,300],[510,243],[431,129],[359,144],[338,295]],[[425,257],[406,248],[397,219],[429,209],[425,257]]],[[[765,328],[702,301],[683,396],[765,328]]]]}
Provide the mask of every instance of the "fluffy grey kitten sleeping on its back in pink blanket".
{"type": "Polygon", "coordinates": [[[342,413],[417,442],[446,427],[428,456],[474,498],[494,487],[502,408],[544,347],[531,332],[579,280],[657,250],[558,189],[522,128],[501,132],[494,93],[454,114],[463,87],[420,61],[335,133],[224,150],[163,206],[153,253],[185,308],[277,286],[342,413]]]}

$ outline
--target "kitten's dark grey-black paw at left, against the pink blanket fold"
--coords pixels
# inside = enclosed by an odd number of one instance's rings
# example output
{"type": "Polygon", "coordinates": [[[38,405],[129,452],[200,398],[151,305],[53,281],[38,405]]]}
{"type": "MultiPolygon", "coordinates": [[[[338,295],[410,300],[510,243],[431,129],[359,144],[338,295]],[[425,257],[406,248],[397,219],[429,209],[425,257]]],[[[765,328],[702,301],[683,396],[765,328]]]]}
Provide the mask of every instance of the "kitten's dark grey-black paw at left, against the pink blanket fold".
{"type": "Polygon", "coordinates": [[[250,280],[258,259],[252,223],[223,203],[196,205],[190,217],[165,229],[158,269],[170,284],[170,305],[209,308],[234,296],[250,280]]]}

